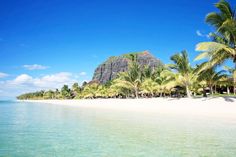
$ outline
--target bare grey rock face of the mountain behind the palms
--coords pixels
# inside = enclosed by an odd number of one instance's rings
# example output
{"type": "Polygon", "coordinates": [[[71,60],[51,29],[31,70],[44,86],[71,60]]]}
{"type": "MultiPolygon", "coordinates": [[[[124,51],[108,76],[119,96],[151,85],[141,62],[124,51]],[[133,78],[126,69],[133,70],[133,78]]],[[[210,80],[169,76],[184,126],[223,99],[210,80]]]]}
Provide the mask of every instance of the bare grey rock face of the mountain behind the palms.
{"type": "MultiPolygon", "coordinates": [[[[162,64],[159,59],[153,57],[148,51],[134,54],[137,55],[137,62],[141,67],[149,66],[151,68],[156,68],[162,64]]],[[[132,61],[130,56],[132,56],[132,54],[110,57],[96,68],[93,75],[93,81],[104,84],[116,78],[118,73],[127,71],[129,62],[132,61]]]]}

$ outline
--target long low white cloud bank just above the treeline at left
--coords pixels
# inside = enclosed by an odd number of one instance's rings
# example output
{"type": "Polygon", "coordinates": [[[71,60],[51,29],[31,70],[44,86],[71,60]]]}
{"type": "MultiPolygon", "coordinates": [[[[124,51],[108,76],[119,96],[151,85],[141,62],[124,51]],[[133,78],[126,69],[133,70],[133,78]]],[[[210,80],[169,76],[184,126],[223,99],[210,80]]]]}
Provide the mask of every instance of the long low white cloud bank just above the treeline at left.
{"type": "MultiPolygon", "coordinates": [[[[15,79],[0,81],[1,97],[15,97],[22,93],[34,92],[38,90],[60,89],[64,84],[71,86],[78,82],[75,75],[69,72],[32,77],[28,74],[21,74],[15,79]]],[[[79,81],[80,82],[80,81],[79,81]]]]}

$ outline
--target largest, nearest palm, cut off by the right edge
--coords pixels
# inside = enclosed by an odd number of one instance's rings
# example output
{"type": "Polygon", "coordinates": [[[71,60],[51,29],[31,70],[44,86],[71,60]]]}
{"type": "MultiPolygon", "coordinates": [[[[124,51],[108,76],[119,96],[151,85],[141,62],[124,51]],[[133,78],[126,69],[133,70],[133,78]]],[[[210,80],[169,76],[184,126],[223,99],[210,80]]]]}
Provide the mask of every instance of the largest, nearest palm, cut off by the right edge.
{"type": "MultiPolygon", "coordinates": [[[[231,59],[236,69],[236,10],[232,9],[233,7],[225,0],[220,0],[215,7],[220,12],[212,12],[206,16],[206,22],[216,29],[216,33],[211,34],[213,41],[202,42],[196,46],[196,50],[202,53],[195,60],[209,59],[207,64],[202,66],[203,69],[207,69],[231,59]]],[[[236,77],[233,82],[235,93],[236,77]]]]}

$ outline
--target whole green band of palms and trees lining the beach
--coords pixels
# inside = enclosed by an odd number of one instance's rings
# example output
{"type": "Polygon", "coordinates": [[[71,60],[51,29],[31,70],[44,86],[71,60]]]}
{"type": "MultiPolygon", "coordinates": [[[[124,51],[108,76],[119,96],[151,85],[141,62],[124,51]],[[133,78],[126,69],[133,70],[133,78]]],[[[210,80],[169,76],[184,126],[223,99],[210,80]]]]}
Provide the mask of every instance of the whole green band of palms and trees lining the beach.
{"type": "Polygon", "coordinates": [[[118,76],[100,84],[97,81],[64,85],[60,90],[37,91],[18,96],[18,99],[95,99],[95,98],[151,98],[195,97],[236,94],[236,10],[225,0],[215,4],[219,12],[206,16],[215,28],[211,41],[197,44],[201,53],[195,60],[204,61],[192,66],[186,50],[170,57],[171,64],[155,69],[138,64],[135,53],[127,54],[129,68],[118,76]],[[224,66],[230,60],[235,67],[224,66]]]}

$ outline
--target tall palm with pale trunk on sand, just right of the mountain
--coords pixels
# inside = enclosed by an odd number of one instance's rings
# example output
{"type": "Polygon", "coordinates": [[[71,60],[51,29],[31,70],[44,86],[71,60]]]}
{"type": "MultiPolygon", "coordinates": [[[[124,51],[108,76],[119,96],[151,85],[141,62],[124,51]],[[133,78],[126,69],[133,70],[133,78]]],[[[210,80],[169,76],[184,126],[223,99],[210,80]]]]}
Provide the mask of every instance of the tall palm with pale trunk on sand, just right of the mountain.
{"type": "Polygon", "coordinates": [[[187,97],[191,97],[190,86],[194,79],[193,68],[190,65],[187,51],[177,53],[170,58],[174,64],[170,64],[171,69],[176,70],[176,81],[186,89],[187,97]]]}

